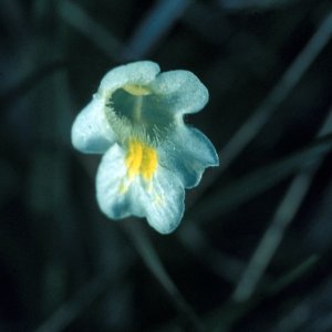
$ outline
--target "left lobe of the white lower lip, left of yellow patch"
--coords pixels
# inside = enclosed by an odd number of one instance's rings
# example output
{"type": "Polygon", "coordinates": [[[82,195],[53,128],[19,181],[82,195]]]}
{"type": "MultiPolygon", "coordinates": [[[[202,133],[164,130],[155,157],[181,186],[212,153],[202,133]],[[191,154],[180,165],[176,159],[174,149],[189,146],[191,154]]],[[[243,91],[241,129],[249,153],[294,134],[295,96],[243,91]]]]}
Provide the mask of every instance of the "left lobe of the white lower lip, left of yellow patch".
{"type": "Polygon", "coordinates": [[[101,210],[112,219],[131,215],[143,217],[144,211],[137,201],[137,187],[132,184],[122,189],[126,179],[125,152],[114,144],[103,156],[96,176],[96,197],[101,210]]]}

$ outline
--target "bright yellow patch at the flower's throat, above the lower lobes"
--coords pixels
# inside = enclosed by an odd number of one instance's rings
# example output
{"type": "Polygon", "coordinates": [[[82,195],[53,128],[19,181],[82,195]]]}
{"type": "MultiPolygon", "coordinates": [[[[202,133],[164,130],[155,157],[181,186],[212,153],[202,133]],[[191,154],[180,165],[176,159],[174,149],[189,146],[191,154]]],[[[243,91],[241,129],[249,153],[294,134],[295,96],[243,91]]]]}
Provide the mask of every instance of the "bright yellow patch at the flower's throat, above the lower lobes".
{"type": "Polygon", "coordinates": [[[129,178],[141,175],[145,180],[151,180],[157,164],[158,156],[154,147],[137,139],[129,141],[125,158],[129,178]]]}

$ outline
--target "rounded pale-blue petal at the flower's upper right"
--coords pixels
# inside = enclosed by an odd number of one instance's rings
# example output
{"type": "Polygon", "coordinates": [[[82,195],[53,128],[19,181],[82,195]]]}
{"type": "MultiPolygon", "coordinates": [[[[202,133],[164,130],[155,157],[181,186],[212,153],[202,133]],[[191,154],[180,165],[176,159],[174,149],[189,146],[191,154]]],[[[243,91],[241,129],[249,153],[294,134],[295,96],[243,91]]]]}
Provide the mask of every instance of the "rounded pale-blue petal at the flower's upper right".
{"type": "Polygon", "coordinates": [[[151,84],[153,92],[173,113],[188,114],[200,111],[208,102],[209,94],[196,75],[188,71],[160,73],[151,84]]]}

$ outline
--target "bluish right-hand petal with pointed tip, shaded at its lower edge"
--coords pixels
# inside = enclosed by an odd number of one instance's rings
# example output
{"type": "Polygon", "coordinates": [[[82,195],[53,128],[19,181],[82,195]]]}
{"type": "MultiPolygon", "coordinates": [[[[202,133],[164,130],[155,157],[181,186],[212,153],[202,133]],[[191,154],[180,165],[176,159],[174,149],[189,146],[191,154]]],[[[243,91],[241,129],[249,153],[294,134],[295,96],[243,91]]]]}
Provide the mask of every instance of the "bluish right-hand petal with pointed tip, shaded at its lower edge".
{"type": "Polygon", "coordinates": [[[198,185],[206,167],[218,166],[212,143],[198,129],[180,125],[159,149],[160,165],[172,169],[186,188],[198,185]]]}

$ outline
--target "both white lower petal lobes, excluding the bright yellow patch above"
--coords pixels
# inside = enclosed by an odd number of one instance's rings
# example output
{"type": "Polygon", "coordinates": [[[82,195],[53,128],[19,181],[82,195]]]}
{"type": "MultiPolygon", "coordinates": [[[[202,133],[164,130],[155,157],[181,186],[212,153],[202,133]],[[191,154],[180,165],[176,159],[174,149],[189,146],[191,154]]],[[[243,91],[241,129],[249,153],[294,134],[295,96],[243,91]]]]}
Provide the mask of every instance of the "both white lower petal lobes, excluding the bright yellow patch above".
{"type": "Polygon", "coordinates": [[[172,232],[184,215],[183,184],[172,172],[158,167],[151,183],[137,176],[123,189],[127,180],[124,159],[125,152],[117,144],[102,159],[96,177],[101,210],[112,219],[146,217],[160,234],[172,232]]]}

